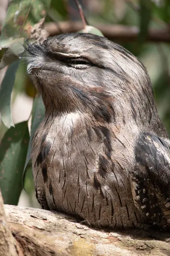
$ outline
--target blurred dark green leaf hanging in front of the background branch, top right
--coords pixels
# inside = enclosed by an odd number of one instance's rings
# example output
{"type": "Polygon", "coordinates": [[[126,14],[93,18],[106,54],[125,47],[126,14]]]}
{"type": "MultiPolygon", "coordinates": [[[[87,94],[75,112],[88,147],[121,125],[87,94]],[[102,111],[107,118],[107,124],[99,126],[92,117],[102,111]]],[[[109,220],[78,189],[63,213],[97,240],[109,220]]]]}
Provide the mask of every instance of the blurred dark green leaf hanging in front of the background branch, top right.
{"type": "Polygon", "coordinates": [[[150,23],[150,19],[152,16],[153,3],[151,0],[140,0],[140,32],[139,32],[139,43],[144,43],[148,27],[150,23]]]}

